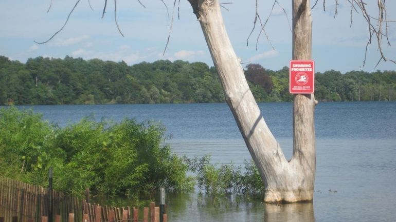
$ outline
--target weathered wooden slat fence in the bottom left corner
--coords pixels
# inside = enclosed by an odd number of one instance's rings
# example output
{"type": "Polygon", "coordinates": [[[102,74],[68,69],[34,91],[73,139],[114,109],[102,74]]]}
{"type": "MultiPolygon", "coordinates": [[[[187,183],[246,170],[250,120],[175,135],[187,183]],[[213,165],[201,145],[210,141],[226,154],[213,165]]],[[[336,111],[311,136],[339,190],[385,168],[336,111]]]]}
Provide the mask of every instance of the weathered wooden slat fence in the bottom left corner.
{"type": "Polygon", "coordinates": [[[150,207],[109,207],[61,192],[0,177],[0,222],[167,222],[154,202],[150,207]],[[51,198],[50,198],[51,197],[51,198]],[[50,201],[51,199],[51,201],[50,201]],[[149,214],[150,213],[150,214],[149,214]]]}

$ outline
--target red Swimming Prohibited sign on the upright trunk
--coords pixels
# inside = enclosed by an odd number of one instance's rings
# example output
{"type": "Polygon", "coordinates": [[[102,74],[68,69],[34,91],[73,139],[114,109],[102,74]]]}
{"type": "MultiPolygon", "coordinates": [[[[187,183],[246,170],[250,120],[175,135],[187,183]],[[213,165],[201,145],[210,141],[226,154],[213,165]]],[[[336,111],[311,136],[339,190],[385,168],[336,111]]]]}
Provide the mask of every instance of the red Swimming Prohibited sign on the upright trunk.
{"type": "Polygon", "coordinates": [[[315,91],[315,63],[313,60],[291,60],[289,91],[292,94],[311,94],[315,91]]]}

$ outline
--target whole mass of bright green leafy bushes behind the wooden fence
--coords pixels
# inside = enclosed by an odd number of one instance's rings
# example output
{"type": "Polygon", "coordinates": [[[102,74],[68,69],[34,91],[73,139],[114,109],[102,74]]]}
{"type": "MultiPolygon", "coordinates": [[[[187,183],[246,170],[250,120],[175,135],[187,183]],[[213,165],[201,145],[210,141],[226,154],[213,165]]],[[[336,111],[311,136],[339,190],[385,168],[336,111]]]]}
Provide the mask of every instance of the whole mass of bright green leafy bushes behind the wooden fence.
{"type": "Polygon", "coordinates": [[[0,109],[0,173],[46,185],[53,168],[54,188],[81,196],[150,193],[163,186],[192,189],[188,166],[164,145],[165,129],[155,123],[95,122],[59,128],[40,114],[0,109]]]}

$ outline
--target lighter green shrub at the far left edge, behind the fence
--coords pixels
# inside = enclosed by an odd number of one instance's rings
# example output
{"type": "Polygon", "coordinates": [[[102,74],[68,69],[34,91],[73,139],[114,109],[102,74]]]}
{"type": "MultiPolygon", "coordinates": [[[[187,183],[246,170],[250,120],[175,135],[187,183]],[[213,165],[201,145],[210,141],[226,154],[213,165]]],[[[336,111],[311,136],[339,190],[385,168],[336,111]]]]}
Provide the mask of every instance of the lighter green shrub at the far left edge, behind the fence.
{"type": "MultiPolygon", "coordinates": [[[[42,115],[15,107],[0,109],[0,156],[4,165],[20,173],[43,169],[49,159],[53,127],[42,115]]],[[[3,169],[4,170],[4,169],[3,169]]],[[[13,171],[13,170],[12,170],[13,171]]],[[[9,173],[14,173],[8,171],[9,173]]]]}

